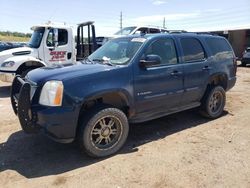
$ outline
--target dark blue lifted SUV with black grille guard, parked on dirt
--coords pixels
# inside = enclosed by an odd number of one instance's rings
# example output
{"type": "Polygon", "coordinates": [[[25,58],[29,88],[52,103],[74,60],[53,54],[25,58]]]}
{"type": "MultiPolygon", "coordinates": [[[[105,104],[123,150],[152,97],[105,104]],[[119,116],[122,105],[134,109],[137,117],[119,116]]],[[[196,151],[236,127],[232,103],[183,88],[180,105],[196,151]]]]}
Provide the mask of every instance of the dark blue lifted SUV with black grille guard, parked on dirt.
{"type": "Polygon", "coordinates": [[[25,132],[77,140],[103,157],[123,146],[129,123],[195,107],[218,118],[235,82],[236,58],[223,37],[138,35],[113,39],[75,65],[17,76],[11,102],[25,132]]]}

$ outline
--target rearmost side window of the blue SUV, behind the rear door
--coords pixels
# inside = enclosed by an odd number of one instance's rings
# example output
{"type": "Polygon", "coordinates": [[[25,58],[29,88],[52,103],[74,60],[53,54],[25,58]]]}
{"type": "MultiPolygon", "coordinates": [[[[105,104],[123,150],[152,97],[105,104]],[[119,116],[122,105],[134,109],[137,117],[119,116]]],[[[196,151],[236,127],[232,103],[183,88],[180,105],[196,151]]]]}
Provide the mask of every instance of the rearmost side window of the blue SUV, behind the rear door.
{"type": "Polygon", "coordinates": [[[216,60],[233,57],[232,49],[225,39],[207,38],[206,42],[216,60]]]}

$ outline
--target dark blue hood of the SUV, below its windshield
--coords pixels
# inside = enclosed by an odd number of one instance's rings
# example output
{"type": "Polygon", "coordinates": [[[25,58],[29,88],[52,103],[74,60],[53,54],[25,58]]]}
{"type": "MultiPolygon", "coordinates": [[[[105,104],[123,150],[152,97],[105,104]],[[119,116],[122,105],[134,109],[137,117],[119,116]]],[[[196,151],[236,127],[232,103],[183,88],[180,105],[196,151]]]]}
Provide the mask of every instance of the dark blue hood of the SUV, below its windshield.
{"type": "Polygon", "coordinates": [[[98,74],[104,71],[110,71],[115,66],[103,64],[82,64],[80,62],[68,66],[53,65],[50,67],[42,67],[30,71],[27,74],[28,80],[37,84],[44,83],[49,80],[69,80],[73,78],[80,78],[90,74],[98,74]]]}

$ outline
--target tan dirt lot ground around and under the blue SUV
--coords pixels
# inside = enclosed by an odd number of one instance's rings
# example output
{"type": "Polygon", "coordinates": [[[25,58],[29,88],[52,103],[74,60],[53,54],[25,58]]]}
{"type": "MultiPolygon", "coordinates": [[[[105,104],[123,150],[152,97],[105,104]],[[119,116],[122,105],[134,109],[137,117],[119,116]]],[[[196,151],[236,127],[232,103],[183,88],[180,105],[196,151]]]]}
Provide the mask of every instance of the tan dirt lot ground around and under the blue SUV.
{"type": "Polygon", "coordinates": [[[190,110],[131,125],[105,159],[23,133],[0,82],[0,187],[250,187],[250,67],[237,74],[223,117],[190,110]]]}

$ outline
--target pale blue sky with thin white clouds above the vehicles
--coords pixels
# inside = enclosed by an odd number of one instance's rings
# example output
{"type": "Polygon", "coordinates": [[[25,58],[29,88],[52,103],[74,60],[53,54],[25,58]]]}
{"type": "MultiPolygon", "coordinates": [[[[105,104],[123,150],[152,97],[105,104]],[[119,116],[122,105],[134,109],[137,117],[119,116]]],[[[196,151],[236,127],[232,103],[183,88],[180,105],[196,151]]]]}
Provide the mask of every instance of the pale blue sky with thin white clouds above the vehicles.
{"type": "Polygon", "coordinates": [[[52,22],[95,21],[98,35],[112,35],[123,26],[162,26],[168,29],[212,31],[250,28],[250,0],[0,0],[0,30],[31,32],[52,22]]]}

